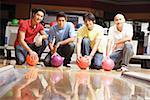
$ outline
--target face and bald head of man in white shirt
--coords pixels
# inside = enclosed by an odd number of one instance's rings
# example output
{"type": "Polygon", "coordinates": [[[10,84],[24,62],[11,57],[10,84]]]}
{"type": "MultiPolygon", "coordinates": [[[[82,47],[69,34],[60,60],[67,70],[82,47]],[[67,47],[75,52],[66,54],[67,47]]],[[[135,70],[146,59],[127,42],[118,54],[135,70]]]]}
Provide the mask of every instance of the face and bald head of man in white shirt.
{"type": "Polygon", "coordinates": [[[114,17],[114,22],[117,26],[117,29],[120,29],[122,28],[123,26],[123,23],[125,22],[125,18],[122,14],[117,14],[115,17],[114,17]]]}

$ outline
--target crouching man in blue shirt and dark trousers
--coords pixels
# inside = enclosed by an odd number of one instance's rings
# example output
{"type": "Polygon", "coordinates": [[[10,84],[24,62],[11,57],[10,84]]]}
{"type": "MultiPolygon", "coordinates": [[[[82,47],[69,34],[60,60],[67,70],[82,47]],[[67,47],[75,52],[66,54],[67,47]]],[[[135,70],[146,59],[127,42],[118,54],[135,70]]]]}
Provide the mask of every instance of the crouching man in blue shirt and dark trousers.
{"type": "Polygon", "coordinates": [[[46,66],[51,65],[51,56],[57,51],[57,53],[64,57],[63,65],[69,67],[72,54],[74,52],[75,44],[75,28],[71,22],[67,22],[67,17],[64,12],[59,12],[56,16],[57,24],[49,30],[49,48],[50,52],[44,60],[46,66]]]}

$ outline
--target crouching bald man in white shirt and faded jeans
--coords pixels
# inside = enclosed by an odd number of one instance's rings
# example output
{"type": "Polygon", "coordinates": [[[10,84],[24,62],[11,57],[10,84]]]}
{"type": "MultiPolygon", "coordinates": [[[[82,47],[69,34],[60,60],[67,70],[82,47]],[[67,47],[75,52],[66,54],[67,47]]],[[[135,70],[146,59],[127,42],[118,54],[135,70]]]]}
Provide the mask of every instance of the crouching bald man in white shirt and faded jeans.
{"type": "Polygon", "coordinates": [[[120,68],[119,70],[126,71],[128,70],[126,66],[129,64],[130,58],[133,56],[133,47],[131,43],[133,27],[132,25],[125,23],[125,18],[122,14],[117,14],[114,17],[114,23],[115,25],[109,28],[106,55],[110,56],[115,62],[116,66],[114,69],[120,68]],[[112,53],[110,54],[111,49],[112,53]]]}

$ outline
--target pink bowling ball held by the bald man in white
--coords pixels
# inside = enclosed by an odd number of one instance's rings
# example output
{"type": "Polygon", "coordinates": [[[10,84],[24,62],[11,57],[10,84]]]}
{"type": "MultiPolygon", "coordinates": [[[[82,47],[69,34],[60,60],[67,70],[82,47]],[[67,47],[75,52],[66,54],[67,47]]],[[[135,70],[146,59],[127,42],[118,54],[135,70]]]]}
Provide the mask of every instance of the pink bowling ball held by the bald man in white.
{"type": "Polygon", "coordinates": [[[114,61],[110,58],[110,57],[106,57],[106,59],[104,59],[102,61],[102,68],[105,71],[110,71],[114,68],[115,64],[114,61]]]}

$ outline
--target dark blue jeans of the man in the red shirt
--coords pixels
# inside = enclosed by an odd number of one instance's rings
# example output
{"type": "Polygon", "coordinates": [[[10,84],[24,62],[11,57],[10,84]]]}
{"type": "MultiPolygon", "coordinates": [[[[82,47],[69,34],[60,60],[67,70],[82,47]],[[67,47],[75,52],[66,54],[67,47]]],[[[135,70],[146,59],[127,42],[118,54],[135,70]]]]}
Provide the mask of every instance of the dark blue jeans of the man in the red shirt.
{"type": "MultiPolygon", "coordinates": [[[[28,46],[35,51],[38,54],[38,57],[41,57],[41,54],[43,53],[43,51],[45,50],[46,46],[47,46],[47,40],[43,40],[42,41],[42,45],[37,47],[35,45],[35,43],[33,44],[28,44],[28,46]]],[[[17,45],[15,47],[15,56],[16,56],[16,64],[18,65],[22,65],[25,63],[26,61],[26,56],[27,56],[28,52],[21,46],[21,45],[17,45]]]]}

